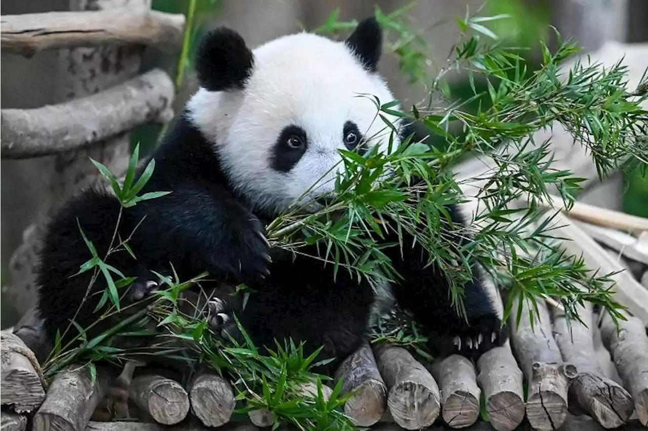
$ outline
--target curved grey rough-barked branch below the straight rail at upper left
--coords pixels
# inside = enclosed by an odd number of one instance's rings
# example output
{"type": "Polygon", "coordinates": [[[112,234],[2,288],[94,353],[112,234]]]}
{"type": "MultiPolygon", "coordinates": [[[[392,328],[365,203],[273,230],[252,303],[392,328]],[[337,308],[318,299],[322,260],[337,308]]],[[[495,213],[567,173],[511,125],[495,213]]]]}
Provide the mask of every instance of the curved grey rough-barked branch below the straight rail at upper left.
{"type": "Polygon", "coordinates": [[[154,69],[100,93],[36,109],[0,109],[0,159],[78,149],[172,117],[174,85],[154,69]]]}

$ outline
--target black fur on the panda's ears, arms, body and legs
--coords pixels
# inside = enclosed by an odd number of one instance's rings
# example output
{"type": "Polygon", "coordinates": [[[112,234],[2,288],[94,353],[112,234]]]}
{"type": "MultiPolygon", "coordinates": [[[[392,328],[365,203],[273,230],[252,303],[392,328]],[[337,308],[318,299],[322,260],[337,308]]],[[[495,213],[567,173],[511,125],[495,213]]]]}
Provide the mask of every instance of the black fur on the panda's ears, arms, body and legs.
{"type": "MultiPolygon", "coordinates": [[[[374,24],[365,21],[362,26],[352,36],[354,46],[360,52],[375,52],[374,24]]],[[[244,74],[232,71],[240,72],[245,67],[229,68],[236,63],[239,66],[248,63],[237,55],[251,58],[233,32],[217,30],[215,34],[207,36],[197,61],[201,79],[211,80],[212,88],[239,82],[244,74]],[[228,48],[205,48],[224,45],[228,48]],[[206,52],[211,54],[207,56],[206,52]],[[219,57],[231,63],[220,63],[222,69],[218,69],[219,63],[212,61],[219,57]],[[214,77],[219,78],[214,80],[214,77]]],[[[404,133],[408,135],[411,131],[408,127],[404,133]]],[[[129,298],[136,299],[142,292],[146,293],[146,282],[157,280],[151,271],[168,274],[172,263],[181,280],[207,271],[220,282],[246,283],[255,289],[244,310],[240,298],[229,298],[229,291],[220,291],[218,296],[229,300],[228,305],[260,346],[273,348],[275,338],[281,341],[285,337],[305,340],[307,353],[323,345],[322,357],[337,359],[325,372],[330,372],[358,348],[367,336],[375,299],[368,283],[352,280],[343,270],[338,271],[333,282],[330,266],[323,267],[320,261],[305,257],[293,261],[290,254],[269,250],[263,226],[276,214],[252,212],[249,202],[234,191],[233,184],[224,175],[213,144],[205,140],[187,116],[176,121],[152,157],[156,160],[156,170],[141,193],[172,193],[124,209],[119,234],[121,238],[132,235],[130,246],[137,260],[121,252],[111,255],[107,261],[126,276],[138,277],[139,284],[132,288],[129,298]]],[[[454,221],[463,223],[456,208],[449,210],[454,221]]],[[[77,219],[103,257],[118,214],[119,204],[114,197],[87,190],[67,203],[49,226],[41,252],[38,285],[39,309],[50,337],[73,318],[91,277],[91,271],[73,276],[91,258],[78,233],[77,219]]],[[[388,238],[390,242],[393,240],[388,238]]],[[[461,241],[457,238],[459,245],[461,241]]],[[[459,351],[476,357],[491,346],[491,333],[497,334],[494,344],[501,344],[504,340],[501,322],[480,280],[476,278],[466,287],[469,322],[465,322],[450,307],[443,274],[434,267],[425,268],[420,246],[411,247],[412,243],[411,238],[405,238],[404,256],[400,255],[399,247],[386,250],[397,271],[404,276],[404,282],[395,289],[395,296],[432,336],[434,347],[440,353],[450,353],[454,347],[452,337],[476,338],[481,334],[484,342],[480,348],[467,349],[464,343],[459,351]]],[[[94,291],[104,288],[103,278],[99,277],[94,291]]],[[[97,300],[93,296],[76,316],[81,326],[87,327],[95,320],[93,309],[97,300]]]]}

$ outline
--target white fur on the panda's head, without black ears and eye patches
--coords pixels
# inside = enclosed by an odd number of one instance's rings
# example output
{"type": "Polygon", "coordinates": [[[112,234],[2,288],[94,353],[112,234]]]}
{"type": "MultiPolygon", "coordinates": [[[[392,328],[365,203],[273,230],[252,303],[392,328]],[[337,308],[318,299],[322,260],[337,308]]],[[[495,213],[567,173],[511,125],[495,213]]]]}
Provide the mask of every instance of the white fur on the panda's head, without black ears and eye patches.
{"type": "MultiPolygon", "coordinates": [[[[281,212],[318,181],[308,197],[331,192],[335,171],[343,169],[337,150],[346,149],[347,120],[365,138],[378,138],[369,144],[389,142],[391,129],[377,115],[372,96],[381,104],[394,96],[342,41],[292,34],[257,47],[253,56],[245,89],[200,89],[188,104],[192,121],[214,143],[227,175],[252,203],[281,212]],[[306,131],[307,151],[282,173],[270,167],[270,155],[283,127],[291,124],[306,131]]],[[[397,117],[385,116],[398,124],[397,117]]],[[[393,138],[397,144],[398,137],[393,138]]]]}

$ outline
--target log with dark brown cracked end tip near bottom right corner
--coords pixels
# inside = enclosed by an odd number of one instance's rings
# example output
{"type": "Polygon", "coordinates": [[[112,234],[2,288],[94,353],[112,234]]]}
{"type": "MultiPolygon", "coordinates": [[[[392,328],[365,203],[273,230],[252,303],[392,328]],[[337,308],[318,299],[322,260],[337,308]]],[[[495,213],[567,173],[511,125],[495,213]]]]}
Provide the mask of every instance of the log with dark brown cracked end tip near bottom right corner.
{"type": "MultiPolygon", "coordinates": [[[[622,386],[605,377],[596,359],[590,327],[577,320],[567,322],[564,312],[558,309],[552,313],[553,336],[562,359],[578,370],[569,386],[570,412],[588,414],[605,428],[623,425],[634,410],[632,397],[622,386]]],[[[584,323],[591,325],[591,303],[577,305],[577,313],[584,323]]]]}

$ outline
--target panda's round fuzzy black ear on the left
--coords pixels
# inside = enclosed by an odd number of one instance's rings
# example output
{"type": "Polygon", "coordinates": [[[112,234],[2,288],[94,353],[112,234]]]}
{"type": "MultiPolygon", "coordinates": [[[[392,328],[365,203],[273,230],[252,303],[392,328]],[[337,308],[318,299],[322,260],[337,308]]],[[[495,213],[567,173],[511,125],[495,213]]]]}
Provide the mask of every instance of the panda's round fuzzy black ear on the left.
{"type": "Polygon", "coordinates": [[[207,33],[196,52],[198,82],[209,91],[243,89],[254,58],[243,38],[226,27],[207,33]]]}

